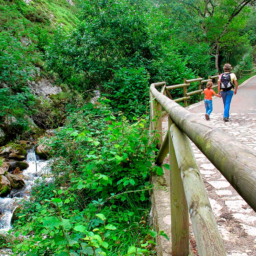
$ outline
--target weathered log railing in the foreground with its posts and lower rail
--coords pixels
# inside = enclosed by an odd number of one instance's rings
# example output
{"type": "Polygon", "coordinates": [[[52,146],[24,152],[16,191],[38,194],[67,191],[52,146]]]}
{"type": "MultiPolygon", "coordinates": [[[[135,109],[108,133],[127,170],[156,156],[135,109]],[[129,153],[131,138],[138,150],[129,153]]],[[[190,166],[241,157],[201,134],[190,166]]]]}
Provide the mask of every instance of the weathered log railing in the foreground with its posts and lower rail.
{"type": "MultiPolygon", "coordinates": [[[[201,80],[200,80],[201,81],[201,80]]],[[[202,81],[201,81],[202,82],[202,81]]],[[[186,81],[188,86],[189,80],[186,81]]],[[[181,85],[180,85],[181,86],[181,85]]],[[[256,211],[256,151],[210,126],[165,94],[165,82],[150,87],[151,129],[160,134],[156,164],[169,153],[172,255],[189,254],[190,215],[200,256],[223,256],[225,249],[189,139],[256,211]],[[160,92],[155,88],[162,86],[160,92]],[[162,134],[163,111],[168,132],[162,134]]],[[[187,97],[187,96],[186,96],[187,97]]]]}

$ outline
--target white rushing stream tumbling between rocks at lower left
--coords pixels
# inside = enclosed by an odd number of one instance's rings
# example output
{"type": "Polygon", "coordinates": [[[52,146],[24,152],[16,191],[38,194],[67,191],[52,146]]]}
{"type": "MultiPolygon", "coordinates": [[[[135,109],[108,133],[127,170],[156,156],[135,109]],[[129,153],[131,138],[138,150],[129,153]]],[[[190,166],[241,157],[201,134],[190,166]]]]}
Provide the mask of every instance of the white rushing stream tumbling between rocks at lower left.
{"type": "Polygon", "coordinates": [[[29,167],[21,172],[25,186],[19,190],[13,189],[7,197],[0,198],[0,232],[11,229],[13,211],[18,207],[22,199],[29,199],[35,180],[49,171],[47,169],[49,160],[37,159],[34,148],[27,151],[26,162],[29,167]]]}

